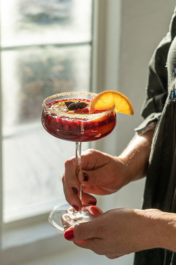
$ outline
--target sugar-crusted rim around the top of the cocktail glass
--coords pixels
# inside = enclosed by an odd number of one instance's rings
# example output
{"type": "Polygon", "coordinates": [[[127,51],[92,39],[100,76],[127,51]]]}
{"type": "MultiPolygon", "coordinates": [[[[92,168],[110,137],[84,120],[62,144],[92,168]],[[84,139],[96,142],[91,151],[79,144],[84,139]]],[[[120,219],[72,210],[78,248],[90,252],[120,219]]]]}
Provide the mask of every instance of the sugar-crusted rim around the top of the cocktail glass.
{"type": "Polygon", "coordinates": [[[64,112],[60,112],[60,111],[56,111],[54,109],[52,109],[51,112],[51,108],[46,107],[47,101],[53,98],[58,98],[60,96],[69,96],[69,95],[92,95],[92,96],[97,96],[98,94],[93,93],[93,92],[63,92],[63,93],[59,93],[59,94],[55,94],[52,96],[47,97],[44,101],[43,101],[43,108],[50,112],[50,113],[54,113],[57,116],[64,116],[64,117],[68,117],[68,118],[78,118],[78,119],[97,119],[103,116],[106,116],[109,113],[112,113],[113,110],[115,109],[115,105],[109,109],[108,111],[103,111],[101,113],[94,113],[94,114],[69,114],[69,113],[64,113],[64,112]]]}

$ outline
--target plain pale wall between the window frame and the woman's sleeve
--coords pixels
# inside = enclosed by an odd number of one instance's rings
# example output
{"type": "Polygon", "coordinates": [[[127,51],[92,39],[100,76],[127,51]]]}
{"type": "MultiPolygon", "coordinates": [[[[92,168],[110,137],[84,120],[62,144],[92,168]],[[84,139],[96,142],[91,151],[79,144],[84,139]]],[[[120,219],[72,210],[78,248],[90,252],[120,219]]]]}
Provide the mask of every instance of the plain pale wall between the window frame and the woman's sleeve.
{"type": "MultiPolygon", "coordinates": [[[[110,0],[111,1],[111,0],[110,0]]],[[[148,63],[167,34],[176,2],[174,0],[122,0],[119,90],[134,107],[134,116],[119,115],[118,150],[121,152],[141,121],[148,63]]]]}

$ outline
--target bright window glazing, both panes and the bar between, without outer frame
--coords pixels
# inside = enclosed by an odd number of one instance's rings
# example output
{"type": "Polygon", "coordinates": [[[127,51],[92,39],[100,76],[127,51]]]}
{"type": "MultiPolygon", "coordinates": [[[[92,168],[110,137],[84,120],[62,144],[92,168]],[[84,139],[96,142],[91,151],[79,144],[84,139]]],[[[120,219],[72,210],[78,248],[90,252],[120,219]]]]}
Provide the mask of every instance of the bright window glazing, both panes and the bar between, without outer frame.
{"type": "MultiPolygon", "coordinates": [[[[91,0],[1,0],[3,222],[64,200],[61,175],[75,144],[41,125],[42,101],[91,90],[91,0]]],[[[84,143],[87,149],[88,144],[84,143]]]]}

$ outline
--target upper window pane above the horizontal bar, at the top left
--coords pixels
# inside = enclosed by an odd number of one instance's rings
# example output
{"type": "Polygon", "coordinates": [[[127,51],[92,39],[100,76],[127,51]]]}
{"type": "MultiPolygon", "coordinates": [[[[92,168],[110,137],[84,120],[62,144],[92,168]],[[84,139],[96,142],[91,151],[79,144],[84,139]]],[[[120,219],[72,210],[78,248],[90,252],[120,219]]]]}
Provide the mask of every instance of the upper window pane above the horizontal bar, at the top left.
{"type": "Polygon", "coordinates": [[[1,47],[91,41],[91,0],[0,0],[1,47]]]}

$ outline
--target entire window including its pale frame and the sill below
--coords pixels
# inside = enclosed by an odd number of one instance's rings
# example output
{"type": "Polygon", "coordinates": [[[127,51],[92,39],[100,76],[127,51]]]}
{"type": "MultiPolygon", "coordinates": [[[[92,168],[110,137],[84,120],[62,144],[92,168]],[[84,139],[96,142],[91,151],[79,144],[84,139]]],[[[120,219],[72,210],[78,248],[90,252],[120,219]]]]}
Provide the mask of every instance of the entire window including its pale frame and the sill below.
{"type": "MultiPolygon", "coordinates": [[[[41,104],[56,92],[118,86],[120,22],[116,0],[0,0],[0,264],[68,255],[73,248],[50,226],[48,213],[64,199],[63,162],[75,144],[42,128],[41,104]]],[[[116,136],[114,131],[92,147],[116,154],[116,136]]],[[[98,206],[113,207],[112,196],[96,196],[98,206]]]]}

